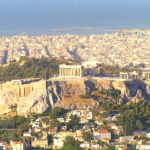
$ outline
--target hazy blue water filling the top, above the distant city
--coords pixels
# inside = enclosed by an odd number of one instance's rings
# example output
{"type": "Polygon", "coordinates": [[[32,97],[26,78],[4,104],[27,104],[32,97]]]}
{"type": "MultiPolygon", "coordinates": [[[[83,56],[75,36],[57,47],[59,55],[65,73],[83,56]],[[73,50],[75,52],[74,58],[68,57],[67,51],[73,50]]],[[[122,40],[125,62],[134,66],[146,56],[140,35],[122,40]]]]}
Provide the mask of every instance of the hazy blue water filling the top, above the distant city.
{"type": "Polygon", "coordinates": [[[150,29],[150,0],[0,0],[0,36],[150,29]]]}

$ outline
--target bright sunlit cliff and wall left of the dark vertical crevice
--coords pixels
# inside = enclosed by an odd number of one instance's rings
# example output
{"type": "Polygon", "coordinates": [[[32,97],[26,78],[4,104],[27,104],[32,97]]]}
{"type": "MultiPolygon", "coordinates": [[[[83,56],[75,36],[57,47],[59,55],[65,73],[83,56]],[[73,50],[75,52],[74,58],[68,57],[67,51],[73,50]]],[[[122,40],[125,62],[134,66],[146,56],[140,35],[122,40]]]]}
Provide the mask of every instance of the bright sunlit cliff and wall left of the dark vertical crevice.
{"type": "Polygon", "coordinates": [[[11,109],[23,115],[30,112],[41,113],[49,107],[46,100],[44,80],[29,84],[7,82],[0,85],[0,114],[8,113],[11,109]]]}

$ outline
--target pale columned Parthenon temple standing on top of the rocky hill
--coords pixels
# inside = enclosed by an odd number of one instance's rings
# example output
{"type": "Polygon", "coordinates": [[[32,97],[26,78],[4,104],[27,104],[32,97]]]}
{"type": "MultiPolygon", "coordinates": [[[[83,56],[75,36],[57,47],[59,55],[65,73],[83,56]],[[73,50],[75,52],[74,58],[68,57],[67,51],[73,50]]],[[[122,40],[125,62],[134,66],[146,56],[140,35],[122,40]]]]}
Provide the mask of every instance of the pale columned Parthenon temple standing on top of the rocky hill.
{"type": "Polygon", "coordinates": [[[84,68],[81,65],[59,65],[60,77],[83,77],[84,68]]]}

